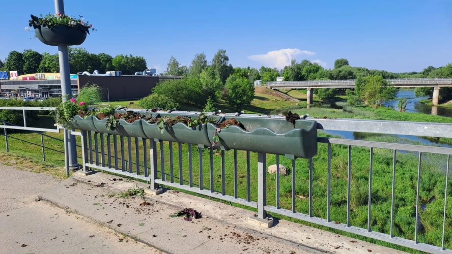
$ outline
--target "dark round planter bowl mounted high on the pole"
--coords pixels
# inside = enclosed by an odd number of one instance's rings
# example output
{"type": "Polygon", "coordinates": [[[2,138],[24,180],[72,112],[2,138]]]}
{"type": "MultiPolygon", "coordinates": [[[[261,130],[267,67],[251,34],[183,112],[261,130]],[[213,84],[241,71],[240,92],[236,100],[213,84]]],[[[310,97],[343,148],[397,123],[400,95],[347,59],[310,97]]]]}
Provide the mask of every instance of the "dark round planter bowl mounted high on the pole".
{"type": "Polygon", "coordinates": [[[37,26],[35,34],[42,43],[50,46],[75,46],[82,44],[87,39],[87,33],[80,28],[69,28],[62,25],[55,25],[52,28],[37,26]]]}

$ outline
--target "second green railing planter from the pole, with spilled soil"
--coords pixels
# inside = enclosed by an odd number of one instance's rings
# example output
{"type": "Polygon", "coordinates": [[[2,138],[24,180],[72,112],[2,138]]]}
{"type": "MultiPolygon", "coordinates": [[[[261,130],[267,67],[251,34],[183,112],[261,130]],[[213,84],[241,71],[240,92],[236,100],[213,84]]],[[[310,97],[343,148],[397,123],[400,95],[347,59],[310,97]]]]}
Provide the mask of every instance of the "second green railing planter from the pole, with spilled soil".
{"type": "Polygon", "coordinates": [[[125,137],[139,137],[146,139],[147,136],[143,131],[142,122],[136,120],[132,123],[128,123],[124,119],[119,119],[116,121],[116,127],[109,130],[105,124],[108,118],[100,120],[96,116],[93,116],[93,123],[96,127],[96,131],[99,133],[107,133],[111,135],[121,135],[125,137]]]}

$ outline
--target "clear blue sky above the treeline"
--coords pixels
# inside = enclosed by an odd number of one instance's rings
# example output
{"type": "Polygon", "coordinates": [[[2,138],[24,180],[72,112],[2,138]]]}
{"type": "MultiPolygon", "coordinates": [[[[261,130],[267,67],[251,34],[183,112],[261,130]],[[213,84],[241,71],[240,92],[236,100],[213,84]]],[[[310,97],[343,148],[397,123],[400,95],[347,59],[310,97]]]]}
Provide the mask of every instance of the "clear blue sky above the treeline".
{"type": "MultiPolygon", "coordinates": [[[[54,13],[52,0],[7,1],[0,12],[0,59],[12,50],[56,53],[25,31],[30,14],[54,13]]],[[[452,62],[452,0],[408,1],[65,1],[67,15],[95,28],[91,53],[144,56],[163,72],[173,55],[190,65],[225,49],[234,67],[281,69],[291,59],[323,67],[422,71],[452,62]]],[[[142,71],[142,70],[137,70],[142,71]]]]}

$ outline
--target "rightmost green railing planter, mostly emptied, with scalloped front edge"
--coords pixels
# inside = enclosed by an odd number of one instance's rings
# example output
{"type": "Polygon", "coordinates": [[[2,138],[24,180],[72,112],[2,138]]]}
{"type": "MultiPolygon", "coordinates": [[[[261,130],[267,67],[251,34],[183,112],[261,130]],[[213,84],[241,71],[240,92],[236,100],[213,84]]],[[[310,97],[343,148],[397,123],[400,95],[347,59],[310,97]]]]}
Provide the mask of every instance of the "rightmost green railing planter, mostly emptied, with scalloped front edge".
{"type": "MultiPolygon", "coordinates": [[[[224,117],[228,120],[232,117],[224,117]]],[[[281,118],[234,117],[245,130],[231,125],[218,132],[215,147],[286,155],[288,158],[310,158],[317,154],[317,122],[297,120],[292,123],[281,118]]],[[[209,139],[213,141],[216,126],[207,124],[209,139]]]]}

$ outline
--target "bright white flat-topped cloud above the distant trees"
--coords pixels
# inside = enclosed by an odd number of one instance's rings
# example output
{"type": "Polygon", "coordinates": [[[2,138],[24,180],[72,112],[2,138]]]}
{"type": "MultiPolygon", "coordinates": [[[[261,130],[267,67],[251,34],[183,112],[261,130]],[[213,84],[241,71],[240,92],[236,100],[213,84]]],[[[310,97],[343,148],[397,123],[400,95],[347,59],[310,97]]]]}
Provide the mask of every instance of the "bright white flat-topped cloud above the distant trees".
{"type": "Polygon", "coordinates": [[[287,48],[269,51],[267,54],[250,55],[248,59],[262,63],[271,68],[283,69],[290,65],[290,62],[296,55],[315,55],[316,53],[308,50],[299,50],[297,48],[287,48]]]}

